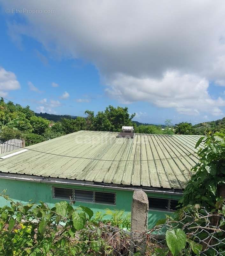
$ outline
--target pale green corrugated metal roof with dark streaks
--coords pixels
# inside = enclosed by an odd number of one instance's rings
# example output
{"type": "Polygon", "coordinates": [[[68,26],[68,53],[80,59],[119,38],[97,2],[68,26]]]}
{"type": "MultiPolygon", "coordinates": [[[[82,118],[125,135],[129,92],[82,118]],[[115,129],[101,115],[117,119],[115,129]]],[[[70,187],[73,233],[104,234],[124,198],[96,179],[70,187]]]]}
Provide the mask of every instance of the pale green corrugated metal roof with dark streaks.
{"type": "Polygon", "coordinates": [[[135,133],[134,139],[123,139],[117,135],[79,131],[47,140],[27,148],[62,156],[29,150],[0,159],[0,171],[132,186],[185,187],[191,167],[198,162],[194,147],[201,136],[135,133]]]}

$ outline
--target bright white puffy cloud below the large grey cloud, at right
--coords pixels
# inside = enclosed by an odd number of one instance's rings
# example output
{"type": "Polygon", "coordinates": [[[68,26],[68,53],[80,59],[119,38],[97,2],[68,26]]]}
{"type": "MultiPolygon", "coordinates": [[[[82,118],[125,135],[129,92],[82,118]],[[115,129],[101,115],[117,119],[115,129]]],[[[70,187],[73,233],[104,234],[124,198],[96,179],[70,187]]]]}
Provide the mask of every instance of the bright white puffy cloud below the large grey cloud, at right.
{"type": "Polygon", "coordinates": [[[200,112],[222,115],[219,107],[225,106],[225,101],[220,97],[212,99],[208,86],[205,78],[178,72],[166,72],[160,79],[118,74],[111,79],[106,93],[122,103],[143,100],[157,107],[175,108],[185,115],[196,116],[200,112]]]}

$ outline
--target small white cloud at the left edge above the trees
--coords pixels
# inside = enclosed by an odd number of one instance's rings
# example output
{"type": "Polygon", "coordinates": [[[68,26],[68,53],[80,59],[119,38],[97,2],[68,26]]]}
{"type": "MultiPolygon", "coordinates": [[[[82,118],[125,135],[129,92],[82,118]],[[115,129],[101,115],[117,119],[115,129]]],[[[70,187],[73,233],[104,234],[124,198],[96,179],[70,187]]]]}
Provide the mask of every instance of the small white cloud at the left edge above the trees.
{"type": "Polygon", "coordinates": [[[13,72],[0,67],[0,96],[6,97],[7,91],[20,89],[20,84],[13,72]]]}

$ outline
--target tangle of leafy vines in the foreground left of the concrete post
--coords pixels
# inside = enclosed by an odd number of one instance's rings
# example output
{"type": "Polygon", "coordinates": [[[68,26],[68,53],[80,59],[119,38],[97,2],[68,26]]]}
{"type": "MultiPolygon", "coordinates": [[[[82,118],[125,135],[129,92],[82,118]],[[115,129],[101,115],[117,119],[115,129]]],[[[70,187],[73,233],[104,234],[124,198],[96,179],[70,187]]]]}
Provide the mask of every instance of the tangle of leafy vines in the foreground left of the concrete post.
{"type": "Polygon", "coordinates": [[[104,235],[102,222],[91,220],[90,208],[62,201],[50,209],[43,202],[22,205],[4,198],[10,206],[0,207],[0,255],[118,255],[107,242],[113,242],[109,230],[104,235]]]}

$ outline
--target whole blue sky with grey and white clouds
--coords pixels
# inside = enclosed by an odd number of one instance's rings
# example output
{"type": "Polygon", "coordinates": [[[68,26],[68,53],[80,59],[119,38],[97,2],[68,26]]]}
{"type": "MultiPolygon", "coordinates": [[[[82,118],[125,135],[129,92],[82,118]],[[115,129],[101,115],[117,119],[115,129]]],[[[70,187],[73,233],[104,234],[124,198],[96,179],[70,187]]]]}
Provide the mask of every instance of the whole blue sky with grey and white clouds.
{"type": "Polygon", "coordinates": [[[223,1],[0,0],[0,96],[84,116],[127,106],[133,120],[225,116],[223,1]]]}

